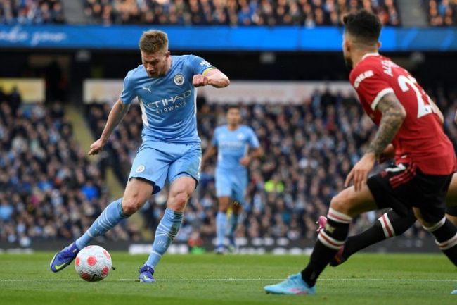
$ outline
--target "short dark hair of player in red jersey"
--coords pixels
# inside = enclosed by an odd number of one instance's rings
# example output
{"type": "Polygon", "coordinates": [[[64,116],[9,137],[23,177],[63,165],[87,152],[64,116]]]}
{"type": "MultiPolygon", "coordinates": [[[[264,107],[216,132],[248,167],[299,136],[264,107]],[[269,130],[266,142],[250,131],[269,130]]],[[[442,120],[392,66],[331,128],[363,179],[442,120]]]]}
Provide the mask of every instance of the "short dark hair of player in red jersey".
{"type": "Polygon", "coordinates": [[[349,13],[343,17],[346,32],[366,44],[378,42],[381,32],[381,21],[378,16],[366,10],[349,13]]]}

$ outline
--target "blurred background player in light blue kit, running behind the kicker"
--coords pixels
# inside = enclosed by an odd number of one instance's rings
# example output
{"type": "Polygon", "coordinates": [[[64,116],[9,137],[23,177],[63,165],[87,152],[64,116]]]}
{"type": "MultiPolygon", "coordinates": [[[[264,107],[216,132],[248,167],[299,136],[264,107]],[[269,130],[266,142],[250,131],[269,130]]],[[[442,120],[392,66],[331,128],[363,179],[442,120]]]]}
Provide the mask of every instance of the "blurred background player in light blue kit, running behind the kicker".
{"type": "Polygon", "coordinates": [[[211,146],[205,151],[202,163],[217,154],[216,192],[219,198],[219,211],[216,216],[216,253],[224,253],[227,209],[232,204],[231,224],[228,231],[229,249],[236,249],[234,232],[238,223],[240,204],[244,202],[247,187],[247,166],[252,158],[262,156],[262,148],[254,131],[240,125],[238,106],[230,106],[227,111],[227,124],[214,130],[211,146]],[[252,148],[250,153],[247,152],[252,148]]]}

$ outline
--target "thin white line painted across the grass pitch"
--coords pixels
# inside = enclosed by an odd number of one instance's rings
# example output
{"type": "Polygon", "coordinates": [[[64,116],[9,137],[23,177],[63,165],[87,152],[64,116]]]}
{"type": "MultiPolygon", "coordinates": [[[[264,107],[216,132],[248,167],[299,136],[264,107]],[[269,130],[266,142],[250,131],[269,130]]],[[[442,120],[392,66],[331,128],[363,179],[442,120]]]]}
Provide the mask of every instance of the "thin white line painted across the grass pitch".
{"type": "MultiPolygon", "coordinates": [[[[278,281],[284,280],[283,278],[165,278],[159,279],[159,282],[255,282],[255,281],[278,281]]],[[[34,279],[0,279],[0,282],[76,282],[78,279],[51,279],[44,278],[40,280],[34,279]]],[[[121,278],[119,280],[113,280],[118,282],[136,282],[136,279],[121,278]]],[[[319,281],[327,282],[457,282],[457,280],[451,279],[387,279],[387,278],[322,278],[319,281]]]]}

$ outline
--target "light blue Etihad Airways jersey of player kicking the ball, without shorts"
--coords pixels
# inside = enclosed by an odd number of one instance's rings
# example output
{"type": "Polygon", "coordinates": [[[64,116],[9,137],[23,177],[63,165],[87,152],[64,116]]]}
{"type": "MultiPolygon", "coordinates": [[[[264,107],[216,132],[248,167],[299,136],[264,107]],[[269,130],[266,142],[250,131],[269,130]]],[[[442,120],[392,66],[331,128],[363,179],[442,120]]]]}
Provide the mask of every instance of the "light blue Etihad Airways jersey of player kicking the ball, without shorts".
{"type": "Polygon", "coordinates": [[[194,55],[172,56],[166,75],[151,78],[143,65],[130,70],[124,79],[120,99],[130,104],[138,97],[143,119],[143,136],[172,143],[200,142],[197,132],[197,89],[193,75],[213,69],[194,55]]]}

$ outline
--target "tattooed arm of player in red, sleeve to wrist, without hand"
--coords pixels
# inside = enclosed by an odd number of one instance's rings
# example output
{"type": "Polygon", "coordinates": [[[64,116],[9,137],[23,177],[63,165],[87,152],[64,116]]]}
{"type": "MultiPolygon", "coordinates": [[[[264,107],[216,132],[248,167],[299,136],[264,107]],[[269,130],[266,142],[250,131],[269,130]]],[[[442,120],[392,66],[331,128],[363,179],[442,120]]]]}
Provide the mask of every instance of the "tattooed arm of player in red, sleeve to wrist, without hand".
{"type": "Polygon", "coordinates": [[[368,147],[366,154],[373,153],[375,158],[379,158],[382,151],[397,135],[401,124],[406,118],[406,111],[393,93],[385,94],[376,108],[382,113],[382,118],[378,132],[376,132],[375,138],[368,147]]]}

